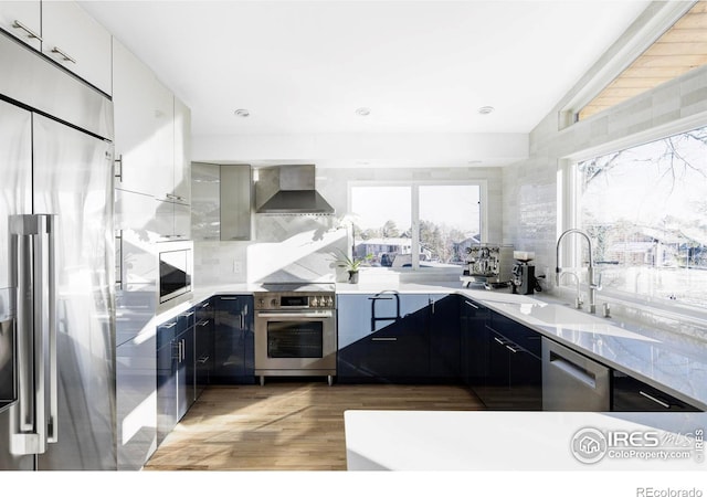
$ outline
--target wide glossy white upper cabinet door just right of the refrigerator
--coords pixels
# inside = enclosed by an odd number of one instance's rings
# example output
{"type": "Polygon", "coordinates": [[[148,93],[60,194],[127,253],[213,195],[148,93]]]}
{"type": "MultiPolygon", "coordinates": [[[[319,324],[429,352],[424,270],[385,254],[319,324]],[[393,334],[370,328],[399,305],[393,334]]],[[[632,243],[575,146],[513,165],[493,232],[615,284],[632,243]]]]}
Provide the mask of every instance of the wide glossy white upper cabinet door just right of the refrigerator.
{"type": "Polygon", "coordinates": [[[117,40],[113,62],[115,151],[119,160],[115,186],[163,199],[173,183],[173,98],[150,68],[117,40]]]}

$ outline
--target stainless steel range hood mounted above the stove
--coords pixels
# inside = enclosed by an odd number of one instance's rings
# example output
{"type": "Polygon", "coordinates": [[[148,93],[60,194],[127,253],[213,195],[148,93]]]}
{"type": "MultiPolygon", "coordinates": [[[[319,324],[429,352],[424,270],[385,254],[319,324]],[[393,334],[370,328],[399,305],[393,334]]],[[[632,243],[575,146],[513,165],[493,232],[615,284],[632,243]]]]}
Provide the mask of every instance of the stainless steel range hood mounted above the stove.
{"type": "MultiPolygon", "coordinates": [[[[258,209],[261,214],[334,214],[334,208],[315,189],[315,166],[266,168],[277,177],[277,191],[258,209]]],[[[263,175],[260,175],[263,179],[263,175]]],[[[260,181],[260,180],[258,180],[260,181]]]]}

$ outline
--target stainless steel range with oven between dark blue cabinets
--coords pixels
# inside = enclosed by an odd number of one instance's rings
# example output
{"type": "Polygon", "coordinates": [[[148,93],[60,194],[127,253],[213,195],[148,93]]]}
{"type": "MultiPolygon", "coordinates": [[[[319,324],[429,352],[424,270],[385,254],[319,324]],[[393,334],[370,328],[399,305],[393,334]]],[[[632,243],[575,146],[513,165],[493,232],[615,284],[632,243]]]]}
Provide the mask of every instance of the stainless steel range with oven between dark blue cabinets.
{"type": "Polygon", "coordinates": [[[265,284],[255,292],[255,376],[336,376],[334,284],[265,284]]]}

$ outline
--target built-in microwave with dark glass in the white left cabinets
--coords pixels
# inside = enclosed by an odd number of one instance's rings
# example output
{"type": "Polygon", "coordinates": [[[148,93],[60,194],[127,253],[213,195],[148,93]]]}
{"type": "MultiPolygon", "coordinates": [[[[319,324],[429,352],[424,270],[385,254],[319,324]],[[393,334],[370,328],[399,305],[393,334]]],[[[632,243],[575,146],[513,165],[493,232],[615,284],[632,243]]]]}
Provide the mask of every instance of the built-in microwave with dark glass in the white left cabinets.
{"type": "Polygon", "coordinates": [[[191,298],[193,242],[162,242],[159,251],[159,307],[165,309],[191,298]]]}

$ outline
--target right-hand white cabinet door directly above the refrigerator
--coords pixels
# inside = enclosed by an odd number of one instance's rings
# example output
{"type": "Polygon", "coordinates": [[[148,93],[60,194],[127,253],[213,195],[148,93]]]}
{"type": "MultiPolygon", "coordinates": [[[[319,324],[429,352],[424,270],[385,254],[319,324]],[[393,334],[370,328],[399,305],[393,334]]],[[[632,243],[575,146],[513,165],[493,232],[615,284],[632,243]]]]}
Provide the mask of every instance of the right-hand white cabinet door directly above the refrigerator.
{"type": "Polygon", "coordinates": [[[42,2],[42,52],[112,94],[110,33],[77,3],[42,2]]]}

